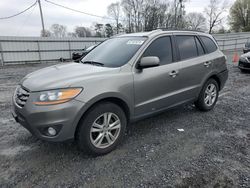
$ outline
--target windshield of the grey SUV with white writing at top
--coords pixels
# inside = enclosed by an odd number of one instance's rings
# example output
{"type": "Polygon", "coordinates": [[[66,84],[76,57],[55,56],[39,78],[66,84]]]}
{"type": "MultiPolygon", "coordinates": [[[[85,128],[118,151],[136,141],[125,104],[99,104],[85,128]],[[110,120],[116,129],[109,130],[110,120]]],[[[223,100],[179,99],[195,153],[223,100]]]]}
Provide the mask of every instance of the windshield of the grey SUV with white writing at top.
{"type": "Polygon", "coordinates": [[[121,67],[133,57],[146,39],[146,37],[108,39],[93,49],[81,62],[95,62],[104,67],[121,67]]]}

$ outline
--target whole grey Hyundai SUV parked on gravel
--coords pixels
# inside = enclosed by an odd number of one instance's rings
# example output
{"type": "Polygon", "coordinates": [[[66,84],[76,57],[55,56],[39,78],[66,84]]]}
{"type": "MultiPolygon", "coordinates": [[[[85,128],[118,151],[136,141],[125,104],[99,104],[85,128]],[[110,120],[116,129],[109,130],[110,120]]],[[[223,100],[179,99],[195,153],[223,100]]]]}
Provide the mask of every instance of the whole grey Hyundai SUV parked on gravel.
{"type": "Polygon", "coordinates": [[[213,109],[228,77],[226,57],[208,34],[155,30],[116,36],[80,63],[27,75],[13,97],[13,116],[36,137],[75,139],[94,155],[112,151],[126,126],[194,103],[213,109]]]}

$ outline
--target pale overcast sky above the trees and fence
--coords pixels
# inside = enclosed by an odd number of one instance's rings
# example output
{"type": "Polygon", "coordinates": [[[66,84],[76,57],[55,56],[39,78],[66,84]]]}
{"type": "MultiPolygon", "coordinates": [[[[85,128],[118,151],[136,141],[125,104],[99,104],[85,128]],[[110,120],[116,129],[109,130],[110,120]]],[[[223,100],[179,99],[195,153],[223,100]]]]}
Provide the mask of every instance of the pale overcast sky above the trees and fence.
{"type": "MultiPolygon", "coordinates": [[[[107,16],[107,7],[117,0],[51,0],[67,7],[96,14],[107,16]]],[[[235,0],[228,0],[232,3],[235,0]]],[[[0,0],[0,17],[10,16],[18,13],[35,0],[0,0]]],[[[49,4],[41,0],[45,28],[49,28],[54,23],[66,25],[69,32],[72,32],[75,26],[93,26],[94,22],[107,23],[110,20],[96,18],[66,10],[49,4]]],[[[187,12],[203,12],[208,5],[209,0],[188,0],[186,3],[187,12]]],[[[39,36],[41,30],[41,20],[38,5],[27,12],[7,20],[0,19],[0,36],[39,36]]]]}

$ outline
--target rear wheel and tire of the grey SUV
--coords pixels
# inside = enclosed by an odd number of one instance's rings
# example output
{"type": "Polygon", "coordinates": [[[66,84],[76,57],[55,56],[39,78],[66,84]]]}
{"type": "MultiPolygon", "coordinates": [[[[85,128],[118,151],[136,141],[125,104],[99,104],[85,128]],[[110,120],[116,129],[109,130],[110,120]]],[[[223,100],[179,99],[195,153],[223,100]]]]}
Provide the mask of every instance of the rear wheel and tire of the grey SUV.
{"type": "Polygon", "coordinates": [[[209,111],[214,108],[218,96],[219,96],[218,82],[215,79],[210,78],[203,85],[198,100],[195,101],[194,104],[201,111],[209,111]]]}

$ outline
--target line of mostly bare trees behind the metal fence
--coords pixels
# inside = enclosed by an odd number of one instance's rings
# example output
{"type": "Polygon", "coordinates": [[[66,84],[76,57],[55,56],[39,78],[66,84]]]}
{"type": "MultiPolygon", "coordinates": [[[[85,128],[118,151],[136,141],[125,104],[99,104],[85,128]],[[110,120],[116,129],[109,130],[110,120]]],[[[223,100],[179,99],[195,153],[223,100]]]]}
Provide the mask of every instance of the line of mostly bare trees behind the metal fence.
{"type": "Polygon", "coordinates": [[[250,31],[250,0],[228,1],[209,0],[202,13],[186,12],[187,0],[120,0],[107,8],[113,21],[106,24],[95,23],[92,28],[76,26],[67,32],[64,25],[53,24],[42,36],[55,37],[110,37],[119,33],[151,31],[157,28],[190,29],[213,32],[250,31]],[[226,15],[229,9],[229,16],[226,15]],[[223,23],[228,21],[230,29],[223,23]]]}

